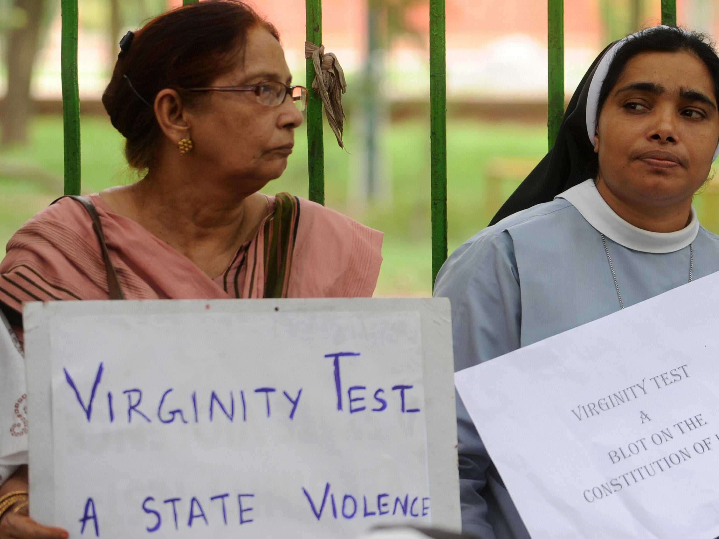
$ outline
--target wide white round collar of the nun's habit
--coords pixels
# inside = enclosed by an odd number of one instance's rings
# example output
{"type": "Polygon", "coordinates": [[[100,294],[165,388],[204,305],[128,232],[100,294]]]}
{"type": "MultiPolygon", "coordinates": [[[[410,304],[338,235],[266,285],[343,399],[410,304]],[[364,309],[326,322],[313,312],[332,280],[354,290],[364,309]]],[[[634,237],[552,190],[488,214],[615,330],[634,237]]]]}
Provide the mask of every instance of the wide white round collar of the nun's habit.
{"type": "Polygon", "coordinates": [[[593,179],[587,179],[555,198],[567,200],[590,225],[607,238],[626,248],[644,253],[673,253],[692,243],[699,233],[699,220],[694,207],[689,224],[676,232],[650,232],[631,225],[609,207],[597,191],[593,179]]]}

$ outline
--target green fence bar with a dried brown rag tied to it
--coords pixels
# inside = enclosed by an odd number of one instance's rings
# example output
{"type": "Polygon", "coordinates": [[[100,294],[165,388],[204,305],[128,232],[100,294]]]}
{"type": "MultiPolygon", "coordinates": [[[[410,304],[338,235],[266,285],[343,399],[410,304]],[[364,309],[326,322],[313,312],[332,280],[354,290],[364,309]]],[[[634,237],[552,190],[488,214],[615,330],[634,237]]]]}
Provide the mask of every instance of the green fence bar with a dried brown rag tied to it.
{"type": "MultiPolygon", "coordinates": [[[[307,41],[322,44],[322,0],[305,0],[307,41]]],[[[315,77],[312,59],[307,59],[307,164],[310,178],[309,199],[324,205],[324,141],[322,100],[312,89],[315,77]]]]}

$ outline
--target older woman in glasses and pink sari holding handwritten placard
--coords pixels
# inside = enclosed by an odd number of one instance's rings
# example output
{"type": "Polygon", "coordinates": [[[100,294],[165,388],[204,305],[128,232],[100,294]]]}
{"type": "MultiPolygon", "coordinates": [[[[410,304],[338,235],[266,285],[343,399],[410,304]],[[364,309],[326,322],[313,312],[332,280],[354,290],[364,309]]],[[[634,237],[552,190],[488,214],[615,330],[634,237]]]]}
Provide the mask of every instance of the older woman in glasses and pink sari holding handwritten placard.
{"type": "MultiPolygon", "coordinates": [[[[283,173],[306,103],[278,39],[229,0],[169,11],[124,37],[103,103],[129,164],[145,175],[86,200],[63,198],[10,240],[0,307],[18,349],[24,301],[372,295],[381,233],[259,192],[283,173]]],[[[27,438],[22,358],[5,340],[0,484],[24,461],[27,438]]],[[[20,467],[0,499],[25,490],[20,467]]],[[[1,539],[66,536],[22,516],[22,503],[6,509],[1,539]]]]}

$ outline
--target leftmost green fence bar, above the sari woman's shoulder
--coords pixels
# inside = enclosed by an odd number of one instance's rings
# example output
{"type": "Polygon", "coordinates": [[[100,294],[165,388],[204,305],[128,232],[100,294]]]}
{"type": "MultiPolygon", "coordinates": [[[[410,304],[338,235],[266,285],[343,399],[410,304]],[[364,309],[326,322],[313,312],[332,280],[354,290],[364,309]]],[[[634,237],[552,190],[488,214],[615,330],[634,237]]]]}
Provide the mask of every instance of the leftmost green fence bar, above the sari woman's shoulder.
{"type": "Polygon", "coordinates": [[[80,93],[78,90],[78,0],[62,0],[60,62],[63,80],[65,194],[80,194],[80,93]]]}

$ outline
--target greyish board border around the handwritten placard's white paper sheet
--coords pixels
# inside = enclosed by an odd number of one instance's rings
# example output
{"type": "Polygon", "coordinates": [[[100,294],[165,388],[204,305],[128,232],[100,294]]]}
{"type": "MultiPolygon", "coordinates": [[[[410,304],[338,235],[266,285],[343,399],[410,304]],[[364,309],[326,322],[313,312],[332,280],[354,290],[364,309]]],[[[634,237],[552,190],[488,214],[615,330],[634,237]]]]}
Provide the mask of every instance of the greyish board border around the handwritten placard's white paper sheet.
{"type": "Polygon", "coordinates": [[[55,522],[50,320],[53,316],[273,311],[416,311],[420,314],[432,525],[461,530],[452,313],[446,298],[129,300],[30,302],[24,306],[30,504],[38,522],[55,522]],[[451,395],[445,398],[444,395],[451,395]]]}

